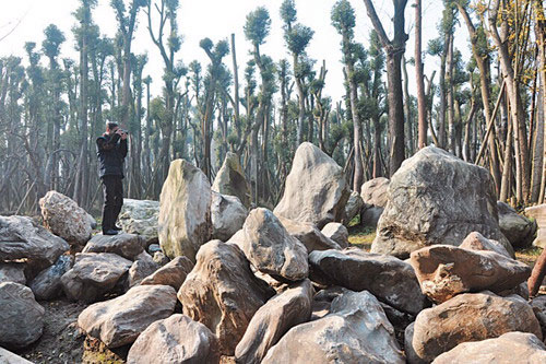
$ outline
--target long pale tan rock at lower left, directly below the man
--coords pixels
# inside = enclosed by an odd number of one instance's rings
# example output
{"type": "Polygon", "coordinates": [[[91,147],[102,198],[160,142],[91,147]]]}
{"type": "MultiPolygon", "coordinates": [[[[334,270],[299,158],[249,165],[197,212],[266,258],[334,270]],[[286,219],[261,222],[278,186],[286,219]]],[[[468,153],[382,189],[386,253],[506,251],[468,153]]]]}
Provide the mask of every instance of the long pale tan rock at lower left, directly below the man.
{"type": "Polygon", "coordinates": [[[152,322],[175,310],[176,291],[168,285],[138,285],[122,296],[85,308],[78,326],[108,348],[132,343],[152,322]]]}

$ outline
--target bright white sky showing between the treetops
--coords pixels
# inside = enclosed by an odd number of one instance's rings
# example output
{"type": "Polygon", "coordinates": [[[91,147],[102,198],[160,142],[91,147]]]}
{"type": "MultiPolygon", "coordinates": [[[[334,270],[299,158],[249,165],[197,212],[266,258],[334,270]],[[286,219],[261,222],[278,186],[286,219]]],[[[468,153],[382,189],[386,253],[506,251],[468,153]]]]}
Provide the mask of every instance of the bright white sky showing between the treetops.
{"type": "MultiPolygon", "coordinates": [[[[157,0],[153,0],[157,1],[157,0]]],[[[109,5],[109,0],[98,0],[98,7],[93,12],[93,19],[99,25],[104,35],[112,37],[116,34],[117,21],[109,5]]],[[[235,33],[237,63],[239,69],[239,80],[242,80],[245,64],[250,58],[250,43],[245,39],[242,27],[246,15],[258,7],[265,7],[272,19],[271,33],[266,43],[261,47],[263,55],[271,56],[274,60],[282,58],[290,59],[286,51],[283,39],[282,20],[278,9],[283,0],[180,0],[178,11],[178,26],[183,37],[180,51],[177,54],[185,64],[189,64],[197,59],[202,64],[207,64],[209,59],[205,52],[199,47],[199,42],[209,37],[214,43],[221,39],[229,39],[235,33]]],[[[0,57],[16,55],[24,58],[24,43],[35,42],[38,47],[44,39],[44,30],[55,23],[67,37],[62,45],[61,57],[78,59],[74,50],[74,38],[72,27],[75,19],[72,13],[79,7],[79,0],[0,0],[2,12],[0,12],[0,57]],[[11,32],[11,33],[10,33],[11,32]],[[9,35],[8,35],[9,34],[9,35]]],[[[129,0],[126,0],[129,3],[129,0]]],[[[327,63],[327,79],[323,94],[332,96],[333,101],[339,101],[344,94],[342,55],[340,50],[341,36],[331,25],[330,13],[335,0],[296,0],[298,11],[298,22],[310,26],[314,31],[314,36],[308,47],[308,54],[317,60],[317,73],[322,64],[327,63]]],[[[351,0],[356,14],[355,40],[368,44],[369,32],[372,25],[366,13],[364,1],[351,0]]],[[[390,37],[392,37],[392,1],[375,0],[377,13],[382,20],[383,26],[390,37]]],[[[406,44],[406,58],[414,55],[414,14],[413,0],[408,0],[406,7],[406,33],[410,39],[406,44]]],[[[423,47],[429,39],[438,36],[437,23],[441,19],[442,1],[423,0],[423,47]]],[[[468,48],[468,36],[466,28],[459,27],[455,33],[455,47],[463,52],[463,59],[471,57],[468,48]]],[[[144,68],[144,77],[150,74],[153,79],[152,93],[157,95],[162,87],[163,60],[158,49],[151,42],[147,31],[147,20],[141,9],[139,24],[132,45],[134,54],[149,55],[149,63],[144,68]]],[[[230,56],[224,59],[232,69],[230,56]]],[[[45,64],[46,59],[44,57],[45,64]]],[[[434,69],[439,68],[439,58],[425,55],[425,74],[430,74],[434,69]]],[[[408,68],[410,93],[415,92],[415,75],[413,67],[408,68]]]]}

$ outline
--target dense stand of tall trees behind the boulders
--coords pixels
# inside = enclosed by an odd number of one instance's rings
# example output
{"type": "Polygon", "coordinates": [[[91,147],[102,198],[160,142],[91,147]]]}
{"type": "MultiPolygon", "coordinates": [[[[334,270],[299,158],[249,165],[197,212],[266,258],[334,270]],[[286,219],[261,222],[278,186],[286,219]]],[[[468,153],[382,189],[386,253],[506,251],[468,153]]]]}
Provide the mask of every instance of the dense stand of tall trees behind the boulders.
{"type": "MultiPolygon", "coordinates": [[[[95,138],[106,120],[129,129],[127,190],[157,199],[174,158],[187,158],[212,180],[228,151],[237,153],[254,203],[278,200],[294,152],[316,143],[344,166],[356,191],[391,176],[405,157],[435,143],[487,167],[499,199],[544,201],[546,89],[544,5],[541,0],[443,0],[439,36],[422,45],[422,1],[415,0],[415,49],[406,49],[407,0],[393,0],[389,38],[373,2],[364,0],[373,31],[369,46],[355,36],[357,15],[347,0],[331,10],[340,34],[346,95],[323,94],[328,68],[306,49],[313,31],[298,22],[294,0],[283,1],[285,46],[290,59],[262,52],[271,30],[265,8],[247,15],[251,59],[242,74],[235,36],[200,47],[207,64],[182,62],[178,0],[111,0],[118,32],[100,35],[96,0],[79,0],[72,30],[80,59],[61,58],[63,33],[51,24],[41,47],[25,44],[19,57],[0,59],[0,212],[33,213],[56,189],[97,209],[99,180],[95,138]],[[164,62],[163,93],[152,98],[146,55],[131,44],[139,20],[164,62]],[[455,48],[458,23],[468,34],[472,59],[455,48]],[[413,54],[413,57],[411,55],[413,54]],[[230,55],[230,57],[228,57],[230,55]],[[438,57],[430,71],[424,55],[438,57]],[[408,92],[407,67],[417,94],[408,92]],[[427,75],[426,75],[427,74],[427,75]],[[241,77],[241,79],[239,79],[241,77]],[[435,79],[438,82],[435,83],[435,79]]],[[[185,60],[187,61],[187,60],[185,60]]]]}

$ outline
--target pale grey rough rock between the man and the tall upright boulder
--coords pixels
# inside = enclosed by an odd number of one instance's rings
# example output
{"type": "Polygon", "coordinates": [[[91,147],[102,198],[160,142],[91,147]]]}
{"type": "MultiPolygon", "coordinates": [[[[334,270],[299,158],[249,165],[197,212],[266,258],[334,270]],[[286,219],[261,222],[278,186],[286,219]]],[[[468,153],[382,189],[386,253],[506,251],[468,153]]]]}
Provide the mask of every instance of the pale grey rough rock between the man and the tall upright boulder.
{"type": "Polygon", "coordinates": [[[150,244],[159,242],[157,237],[157,219],[159,201],[123,199],[119,214],[119,225],[123,232],[140,235],[150,244]]]}

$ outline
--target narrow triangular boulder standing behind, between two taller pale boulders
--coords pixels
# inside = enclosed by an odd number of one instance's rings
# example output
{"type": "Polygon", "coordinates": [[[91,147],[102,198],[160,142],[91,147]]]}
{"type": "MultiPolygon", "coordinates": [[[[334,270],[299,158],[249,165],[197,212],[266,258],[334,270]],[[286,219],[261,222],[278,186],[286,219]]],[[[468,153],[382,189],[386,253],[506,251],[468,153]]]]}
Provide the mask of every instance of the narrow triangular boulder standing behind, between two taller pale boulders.
{"type": "Polygon", "coordinates": [[[222,195],[237,196],[248,209],[251,203],[250,185],[245,178],[245,171],[239,163],[239,156],[228,152],[222,168],[219,168],[212,190],[222,195]]]}

